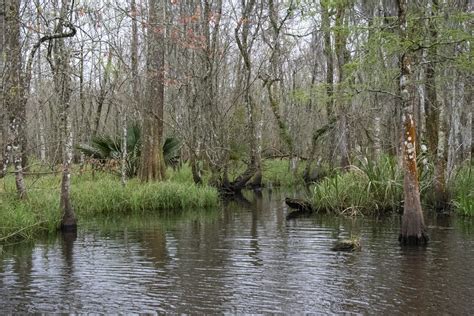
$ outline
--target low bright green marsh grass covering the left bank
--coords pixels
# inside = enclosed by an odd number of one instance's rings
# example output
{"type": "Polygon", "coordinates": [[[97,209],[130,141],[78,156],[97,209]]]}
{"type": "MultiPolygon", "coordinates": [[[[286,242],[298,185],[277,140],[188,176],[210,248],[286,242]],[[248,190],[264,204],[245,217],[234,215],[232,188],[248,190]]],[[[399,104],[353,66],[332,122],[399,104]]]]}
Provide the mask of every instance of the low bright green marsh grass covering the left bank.
{"type": "MultiPolygon", "coordinates": [[[[28,176],[28,198],[18,200],[13,176],[2,179],[0,187],[0,242],[30,238],[59,227],[59,175],[28,176]]],[[[214,208],[219,203],[217,190],[192,182],[163,181],[141,183],[107,173],[72,177],[71,200],[79,222],[98,215],[153,213],[168,210],[214,208]]]]}

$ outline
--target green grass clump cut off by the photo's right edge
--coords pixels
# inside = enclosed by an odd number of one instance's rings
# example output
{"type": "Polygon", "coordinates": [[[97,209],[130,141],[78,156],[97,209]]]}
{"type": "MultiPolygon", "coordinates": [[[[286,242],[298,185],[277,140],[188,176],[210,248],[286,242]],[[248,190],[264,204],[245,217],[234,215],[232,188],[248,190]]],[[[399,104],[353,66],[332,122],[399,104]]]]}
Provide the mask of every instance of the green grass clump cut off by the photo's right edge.
{"type": "Polygon", "coordinates": [[[474,216],[474,174],[472,166],[458,170],[454,178],[452,204],[458,214],[474,216]]]}

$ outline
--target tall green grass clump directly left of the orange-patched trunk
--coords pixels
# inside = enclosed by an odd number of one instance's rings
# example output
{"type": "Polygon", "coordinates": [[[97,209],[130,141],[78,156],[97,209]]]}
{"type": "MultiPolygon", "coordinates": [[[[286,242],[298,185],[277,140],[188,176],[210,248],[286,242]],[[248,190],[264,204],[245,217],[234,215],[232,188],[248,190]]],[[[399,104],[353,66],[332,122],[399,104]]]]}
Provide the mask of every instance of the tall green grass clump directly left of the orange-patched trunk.
{"type": "Polygon", "coordinates": [[[396,211],[403,199],[402,175],[393,158],[361,161],[347,172],[326,177],[313,189],[315,209],[337,214],[396,211]]]}

